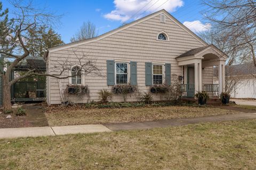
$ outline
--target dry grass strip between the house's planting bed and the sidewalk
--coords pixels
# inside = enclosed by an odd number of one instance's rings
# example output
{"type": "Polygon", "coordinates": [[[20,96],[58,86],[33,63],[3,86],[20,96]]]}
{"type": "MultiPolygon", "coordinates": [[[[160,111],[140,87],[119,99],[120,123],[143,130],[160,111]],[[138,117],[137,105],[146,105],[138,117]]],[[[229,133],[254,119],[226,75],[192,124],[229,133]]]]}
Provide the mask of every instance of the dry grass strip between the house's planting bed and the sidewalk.
{"type": "Polygon", "coordinates": [[[202,117],[237,113],[220,108],[193,106],[131,108],[55,108],[46,111],[50,126],[142,122],[171,118],[202,117]]]}

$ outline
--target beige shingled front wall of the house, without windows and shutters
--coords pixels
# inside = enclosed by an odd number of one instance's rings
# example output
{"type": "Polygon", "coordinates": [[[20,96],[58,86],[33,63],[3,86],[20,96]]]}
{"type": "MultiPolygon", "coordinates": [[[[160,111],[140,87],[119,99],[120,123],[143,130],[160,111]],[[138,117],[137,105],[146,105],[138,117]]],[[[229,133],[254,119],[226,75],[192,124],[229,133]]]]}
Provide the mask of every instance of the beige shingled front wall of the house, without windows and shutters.
{"type": "MultiPolygon", "coordinates": [[[[166,22],[160,22],[160,14],[154,18],[133,25],[130,28],[119,31],[105,37],[103,39],[79,45],[73,48],[66,48],[49,54],[49,73],[54,65],[58,62],[66,60],[72,61],[74,65],[78,62],[74,55],[86,54],[97,60],[97,64],[102,69],[105,77],[95,77],[86,75],[83,77],[82,84],[87,84],[90,89],[90,97],[84,96],[83,98],[73,98],[77,103],[85,103],[88,101],[98,100],[98,91],[101,89],[111,89],[107,86],[106,70],[107,60],[115,61],[136,61],[137,62],[137,84],[139,90],[147,91],[149,87],[145,86],[145,62],[154,63],[171,63],[171,74],[175,73],[182,75],[182,67],[178,66],[175,57],[192,48],[204,46],[196,38],[191,36],[187,31],[183,30],[179,25],[175,24],[171,19],[166,16],[166,22]],[[161,41],[157,40],[159,32],[164,31],[168,34],[170,40],[161,41]],[[57,62],[58,61],[58,62],[57,62]]],[[[206,82],[210,82],[210,74],[212,69],[205,69],[203,74],[207,77],[206,82]]],[[[66,73],[68,75],[69,73],[66,73]]],[[[48,104],[60,104],[60,91],[58,81],[55,78],[48,78],[48,104]]],[[[62,89],[66,88],[69,79],[61,80],[62,89]]],[[[159,96],[155,96],[154,100],[159,100],[159,96]]],[[[127,96],[127,101],[137,101],[137,97],[127,96]]],[[[113,101],[124,101],[122,95],[113,96],[113,101]]]]}

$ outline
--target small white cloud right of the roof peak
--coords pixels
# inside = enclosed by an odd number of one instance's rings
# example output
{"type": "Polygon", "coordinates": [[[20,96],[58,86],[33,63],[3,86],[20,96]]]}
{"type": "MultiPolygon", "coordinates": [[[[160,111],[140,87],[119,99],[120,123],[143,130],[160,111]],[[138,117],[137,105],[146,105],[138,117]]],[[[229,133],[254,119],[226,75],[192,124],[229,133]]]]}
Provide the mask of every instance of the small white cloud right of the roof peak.
{"type": "Polygon", "coordinates": [[[203,32],[211,29],[210,23],[203,24],[201,21],[185,21],[183,23],[186,27],[188,27],[193,32],[203,32]]]}

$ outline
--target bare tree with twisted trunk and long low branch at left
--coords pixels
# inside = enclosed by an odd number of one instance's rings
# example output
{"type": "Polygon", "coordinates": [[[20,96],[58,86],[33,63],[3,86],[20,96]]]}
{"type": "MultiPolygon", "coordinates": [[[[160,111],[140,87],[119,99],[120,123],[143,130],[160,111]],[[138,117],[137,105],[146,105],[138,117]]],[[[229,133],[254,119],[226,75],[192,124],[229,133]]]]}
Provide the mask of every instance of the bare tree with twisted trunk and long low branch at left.
{"type": "MultiPolygon", "coordinates": [[[[58,21],[60,18],[60,16],[47,12],[46,8],[38,9],[34,7],[33,2],[31,1],[27,3],[13,0],[10,3],[15,9],[13,11],[14,18],[8,19],[6,22],[5,29],[7,30],[7,33],[1,35],[2,39],[0,42],[0,53],[14,58],[13,62],[7,65],[6,71],[2,73],[4,111],[12,110],[10,89],[12,84],[15,82],[29,77],[30,75],[50,76],[57,79],[66,79],[71,77],[71,75],[65,74],[71,69],[71,63],[68,61],[68,59],[66,59],[58,62],[56,66],[54,66],[52,72],[47,71],[47,73],[42,73],[36,72],[36,69],[28,68],[25,74],[15,77],[13,80],[9,79],[14,68],[24,61],[30,54],[30,49],[27,42],[35,37],[29,36],[31,34],[29,34],[28,31],[31,28],[35,29],[49,25],[53,21],[58,21]]],[[[77,64],[80,66],[83,74],[99,73],[99,69],[97,69],[95,62],[89,58],[86,59],[87,56],[83,54],[76,56],[77,60],[75,62],[77,62],[77,64]]]]}

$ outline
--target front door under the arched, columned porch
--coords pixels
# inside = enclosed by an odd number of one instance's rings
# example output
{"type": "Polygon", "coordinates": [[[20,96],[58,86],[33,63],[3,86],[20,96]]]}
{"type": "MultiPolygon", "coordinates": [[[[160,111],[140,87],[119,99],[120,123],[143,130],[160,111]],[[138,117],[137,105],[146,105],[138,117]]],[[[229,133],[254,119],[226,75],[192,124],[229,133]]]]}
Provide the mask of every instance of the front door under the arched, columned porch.
{"type": "Polygon", "coordinates": [[[187,97],[195,95],[195,67],[188,66],[187,68],[187,97]]]}

